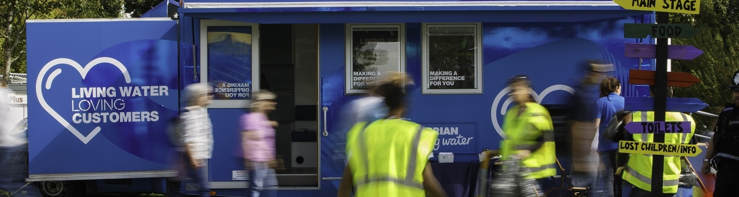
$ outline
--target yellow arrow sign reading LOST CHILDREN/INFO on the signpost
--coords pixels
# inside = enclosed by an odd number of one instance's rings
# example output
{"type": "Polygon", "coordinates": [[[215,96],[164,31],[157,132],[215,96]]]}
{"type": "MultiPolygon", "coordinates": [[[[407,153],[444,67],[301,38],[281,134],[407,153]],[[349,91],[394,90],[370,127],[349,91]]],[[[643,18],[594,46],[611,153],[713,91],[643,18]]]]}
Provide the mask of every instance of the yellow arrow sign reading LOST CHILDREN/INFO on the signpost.
{"type": "Polygon", "coordinates": [[[701,152],[701,148],[698,148],[698,145],[619,141],[619,153],[697,156],[701,152]]]}

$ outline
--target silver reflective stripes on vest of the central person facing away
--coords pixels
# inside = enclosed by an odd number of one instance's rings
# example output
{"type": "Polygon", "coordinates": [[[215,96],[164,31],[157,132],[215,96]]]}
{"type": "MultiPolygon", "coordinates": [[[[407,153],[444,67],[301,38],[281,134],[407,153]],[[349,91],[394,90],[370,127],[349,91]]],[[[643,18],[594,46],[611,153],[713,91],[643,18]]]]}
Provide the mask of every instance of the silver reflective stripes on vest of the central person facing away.
{"type": "Polygon", "coordinates": [[[416,160],[417,160],[416,157],[418,156],[418,150],[416,150],[415,148],[418,147],[418,143],[420,142],[420,135],[422,134],[424,127],[420,126],[418,128],[418,131],[416,131],[414,138],[412,139],[412,142],[411,142],[412,146],[410,148],[411,153],[409,156],[409,167],[408,167],[408,171],[406,172],[406,179],[400,180],[400,179],[395,179],[395,178],[388,177],[388,176],[369,178],[369,151],[367,151],[367,142],[364,142],[364,131],[367,130],[367,126],[369,126],[369,123],[367,123],[367,125],[364,125],[364,128],[362,128],[362,130],[359,131],[359,135],[358,135],[359,148],[361,148],[362,157],[364,157],[363,162],[364,162],[364,167],[367,167],[367,174],[364,175],[364,179],[356,183],[356,187],[359,187],[362,184],[369,184],[371,182],[394,182],[397,184],[403,184],[408,187],[415,187],[420,190],[423,190],[422,183],[413,182],[413,173],[415,173],[416,160]]]}

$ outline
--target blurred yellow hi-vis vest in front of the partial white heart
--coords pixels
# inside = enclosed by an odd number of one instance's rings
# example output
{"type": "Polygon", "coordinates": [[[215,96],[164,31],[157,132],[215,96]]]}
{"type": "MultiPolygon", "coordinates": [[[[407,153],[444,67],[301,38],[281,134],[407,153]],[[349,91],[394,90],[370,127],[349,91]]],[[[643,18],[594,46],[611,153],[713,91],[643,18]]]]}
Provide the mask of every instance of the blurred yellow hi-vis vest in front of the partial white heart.
{"type": "Polygon", "coordinates": [[[503,132],[505,139],[500,142],[503,158],[514,155],[517,150],[537,144],[540,136],[544,144],[523,159],[523,166],[531,168],[529,179],[542,179],[556,174],[554,153],[554,125],[549,111],[537,103],[525,103],[526,109],[518,115],[520,106],[514,106],[505,113],[503,132]]]}

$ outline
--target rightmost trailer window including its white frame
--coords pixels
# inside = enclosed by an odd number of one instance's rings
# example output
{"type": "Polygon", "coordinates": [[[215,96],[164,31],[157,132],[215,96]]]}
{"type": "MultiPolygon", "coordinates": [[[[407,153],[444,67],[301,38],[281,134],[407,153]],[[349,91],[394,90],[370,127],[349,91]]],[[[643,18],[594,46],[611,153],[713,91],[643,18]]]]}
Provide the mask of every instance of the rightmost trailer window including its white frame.
{"type": "Polygon", "coordinates": [[[423,24],[424,94],[481,94],[479,24],[423,24]]]}

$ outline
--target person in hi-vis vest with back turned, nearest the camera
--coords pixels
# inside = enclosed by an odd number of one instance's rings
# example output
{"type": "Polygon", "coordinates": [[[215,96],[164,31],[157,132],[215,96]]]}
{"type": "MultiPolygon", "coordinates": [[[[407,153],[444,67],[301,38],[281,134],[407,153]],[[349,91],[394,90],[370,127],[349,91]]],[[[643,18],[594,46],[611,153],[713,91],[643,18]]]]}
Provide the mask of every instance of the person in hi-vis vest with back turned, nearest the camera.
{"type": "Polygon", "coordinates": [[[388,116],[358,122],[347,133],[347,167],[339,197],[446,196],[429,163],[438,133],[403,119],[404,80],[377,87],[384,91],[388,116]]]}

